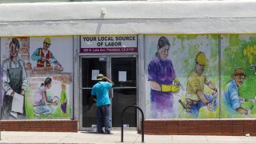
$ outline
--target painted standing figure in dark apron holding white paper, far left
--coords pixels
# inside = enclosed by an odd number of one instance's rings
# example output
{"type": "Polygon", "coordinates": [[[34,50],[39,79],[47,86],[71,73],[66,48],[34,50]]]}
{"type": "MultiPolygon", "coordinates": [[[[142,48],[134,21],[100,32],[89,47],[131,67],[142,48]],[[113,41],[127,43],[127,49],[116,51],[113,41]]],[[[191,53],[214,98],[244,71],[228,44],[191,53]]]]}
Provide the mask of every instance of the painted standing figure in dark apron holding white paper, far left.
{"type": "Polygon", "coordinates": [[[10,42],[5,43],[6,53],[3,53],[1,57],[3,58],[2,90],[4,90],[1,117],[4,120],[26,117],[24,96],[28,81],[24,62],[19,57],[23,43],[20,43],[18,39],[28,41],[26,38],[10,38],[10,42]]]}

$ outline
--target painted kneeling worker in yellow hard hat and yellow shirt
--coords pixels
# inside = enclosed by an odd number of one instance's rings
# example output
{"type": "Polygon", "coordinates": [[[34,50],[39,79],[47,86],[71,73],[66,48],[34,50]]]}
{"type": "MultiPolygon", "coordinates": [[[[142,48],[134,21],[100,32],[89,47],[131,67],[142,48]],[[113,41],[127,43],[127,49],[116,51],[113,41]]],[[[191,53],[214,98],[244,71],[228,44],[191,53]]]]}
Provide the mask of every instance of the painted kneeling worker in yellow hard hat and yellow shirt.
{"type": "Polygon", "coordinates": [[[193,118],[198,118],[202,106],[208,110],[216,110],[218,106],[218,90],[205,74],[207,65],[206,54],[199,51],[195,58],[195,67],[188,77],[186,85],[186,112],[193,118]],[[204,86],[213,90],[213,94],[204,93],[204,86]]]}

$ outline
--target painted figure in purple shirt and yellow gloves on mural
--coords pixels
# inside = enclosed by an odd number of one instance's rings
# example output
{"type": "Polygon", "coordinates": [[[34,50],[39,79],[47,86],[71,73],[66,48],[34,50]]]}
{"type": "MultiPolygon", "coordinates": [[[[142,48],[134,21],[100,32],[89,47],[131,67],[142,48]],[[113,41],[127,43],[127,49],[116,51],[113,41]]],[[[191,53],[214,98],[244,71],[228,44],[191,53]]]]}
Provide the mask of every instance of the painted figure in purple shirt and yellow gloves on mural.
{"type": "Polygon", "coordinates": [[[168,59],[169,40],[162,36],[158,39],[157,52],[148,66],[150,82],[150,112],[152,118],[174,118],[174,93],[178,93],[179,83],[174,66],[168,59]]]}

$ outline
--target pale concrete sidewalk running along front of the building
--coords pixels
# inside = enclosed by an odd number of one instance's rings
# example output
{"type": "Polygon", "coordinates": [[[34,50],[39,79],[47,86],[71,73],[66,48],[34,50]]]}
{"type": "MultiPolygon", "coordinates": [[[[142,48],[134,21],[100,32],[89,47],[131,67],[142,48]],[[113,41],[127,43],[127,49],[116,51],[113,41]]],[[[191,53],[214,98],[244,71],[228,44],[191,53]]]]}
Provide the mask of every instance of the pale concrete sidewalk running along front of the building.
{"type": "MultiPolygon", "coordinates": [[[[132,144],[142,143],[142,135],[135,130],[124,131],[124,142],[121,142],[121,131],[114,134],[93,134],[79,131],[78,133],[64,132],[13,132],[2,131],[0,143],[84,143],[84,144],[132,144]]],[[[246,136],[206,136],[206,135],[144,135],[144,143],[256,143],[256,137],[246,136]]]]}

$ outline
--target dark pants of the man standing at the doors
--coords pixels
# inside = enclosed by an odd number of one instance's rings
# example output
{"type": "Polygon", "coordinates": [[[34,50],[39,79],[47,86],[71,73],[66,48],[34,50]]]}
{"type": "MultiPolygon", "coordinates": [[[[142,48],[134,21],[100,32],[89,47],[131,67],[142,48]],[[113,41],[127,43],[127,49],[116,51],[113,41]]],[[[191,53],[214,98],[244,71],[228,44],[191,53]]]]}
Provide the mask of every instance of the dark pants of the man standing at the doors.
{"type": "Polygon", "coordinates": [[[97,130],[98,133],[104,133],[102,125],[104,122],[105,133],[110,133],[110,105],[98,106],[97,107],[97,130]]]}

